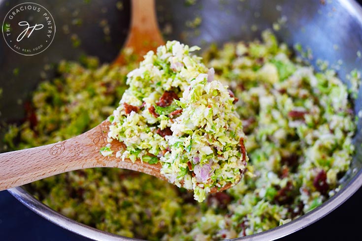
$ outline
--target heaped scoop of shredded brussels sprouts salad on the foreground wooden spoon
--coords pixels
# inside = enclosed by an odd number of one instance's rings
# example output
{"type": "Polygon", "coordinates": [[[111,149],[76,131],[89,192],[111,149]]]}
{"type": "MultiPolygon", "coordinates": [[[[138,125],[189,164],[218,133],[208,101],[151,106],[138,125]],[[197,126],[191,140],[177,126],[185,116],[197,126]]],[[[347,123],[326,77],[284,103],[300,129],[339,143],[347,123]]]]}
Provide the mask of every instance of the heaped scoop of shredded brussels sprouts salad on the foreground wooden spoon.
{"type": "Polygon", "coordinates": [[[160,161],[161,174],[193,189],[201,202],[211,188],[238,183],[248,158],[236,99],[213,80],[213,69],[190,55],[194,50],[168,41],[127,75],[130,87],[109,118],[109,144],[100,152],[133,162],[160,161]],[[113,150],[113,140],[125,150],[113,150]]]}

